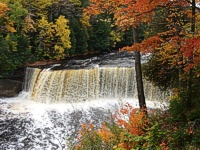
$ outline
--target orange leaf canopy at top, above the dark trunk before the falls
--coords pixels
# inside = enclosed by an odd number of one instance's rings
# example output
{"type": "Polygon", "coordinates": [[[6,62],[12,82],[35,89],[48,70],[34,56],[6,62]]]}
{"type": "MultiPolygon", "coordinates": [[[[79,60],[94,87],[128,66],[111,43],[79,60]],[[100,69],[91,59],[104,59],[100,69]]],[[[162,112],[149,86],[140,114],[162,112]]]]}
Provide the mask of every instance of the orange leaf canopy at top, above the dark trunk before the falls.
{"type": "Polygon", "coordinates": [[[156,7],[165,6],[170,0],[90,0],[84,11],[88,15],[114,14],[119,27],[128,29],[150,22],[156,7]]]}

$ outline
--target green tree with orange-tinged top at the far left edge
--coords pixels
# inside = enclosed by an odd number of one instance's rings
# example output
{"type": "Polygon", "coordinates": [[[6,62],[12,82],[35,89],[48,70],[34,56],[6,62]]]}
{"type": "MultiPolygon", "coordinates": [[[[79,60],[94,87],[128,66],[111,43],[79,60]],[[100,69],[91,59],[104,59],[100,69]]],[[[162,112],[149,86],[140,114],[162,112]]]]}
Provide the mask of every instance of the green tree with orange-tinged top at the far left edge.
{"type": "Polygon", "coordinates": [[[28,11],[18,3],[2,4],[0,16],[0,74],[8,75],[31,58],[29,40],[24,33],[28,11]],[[2,11],[1,11],[2,12],[2,11]],[[29,57],[27,57],[29,56],[29,57]]]}

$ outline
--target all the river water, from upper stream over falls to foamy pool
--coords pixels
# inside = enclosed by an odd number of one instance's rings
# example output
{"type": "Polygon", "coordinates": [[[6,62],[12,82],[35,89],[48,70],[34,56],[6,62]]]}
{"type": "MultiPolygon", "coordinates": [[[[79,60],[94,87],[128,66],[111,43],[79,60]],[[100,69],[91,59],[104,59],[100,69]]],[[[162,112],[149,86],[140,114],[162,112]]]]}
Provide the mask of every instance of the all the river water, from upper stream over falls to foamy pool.
{"type": "MultiPolygon", "coordinates": [[[[133,66],[133,56],[110,54],[26,68],[23,92],[0,98],[0,149],[68,149],[82,123],[98,125],[126,102],[138,107],[133,66]]],[[[161,107],[170,95],[145,80],[144,91],[148,108],[161,107]]]]}

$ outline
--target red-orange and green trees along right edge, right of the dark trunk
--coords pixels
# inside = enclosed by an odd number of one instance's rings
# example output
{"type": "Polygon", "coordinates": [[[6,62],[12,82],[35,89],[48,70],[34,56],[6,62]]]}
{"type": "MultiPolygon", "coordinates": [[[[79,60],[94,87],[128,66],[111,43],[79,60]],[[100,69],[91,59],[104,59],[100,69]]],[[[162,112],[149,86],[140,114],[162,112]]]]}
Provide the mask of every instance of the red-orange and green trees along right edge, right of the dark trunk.
{"type": "Polygon", "coordinates": [[[153,30],[149,39],[132,47],[153,52],[145,74],[159,85],[167,84],[174,92],[170,111],[176,121],[199,119],[200,26],[195,2],[167,5],[163,12],[167,28],[153,30]]]}

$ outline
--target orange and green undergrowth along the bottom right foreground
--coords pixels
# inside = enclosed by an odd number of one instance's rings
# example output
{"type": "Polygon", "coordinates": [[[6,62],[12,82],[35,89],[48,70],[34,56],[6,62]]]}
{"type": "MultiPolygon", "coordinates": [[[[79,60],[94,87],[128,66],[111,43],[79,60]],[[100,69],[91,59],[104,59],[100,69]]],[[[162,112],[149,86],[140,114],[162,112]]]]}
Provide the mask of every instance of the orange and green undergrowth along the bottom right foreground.
{"type": "Polygon", "coordinates": [[[200,124],[197,121],[173,121],[173,115],[171,110],[154,109],[147,117],[144,111],[126,103],[100,126],[82,124],[74,149],[198,150],[200,124]]]}

